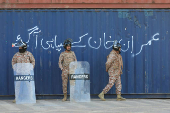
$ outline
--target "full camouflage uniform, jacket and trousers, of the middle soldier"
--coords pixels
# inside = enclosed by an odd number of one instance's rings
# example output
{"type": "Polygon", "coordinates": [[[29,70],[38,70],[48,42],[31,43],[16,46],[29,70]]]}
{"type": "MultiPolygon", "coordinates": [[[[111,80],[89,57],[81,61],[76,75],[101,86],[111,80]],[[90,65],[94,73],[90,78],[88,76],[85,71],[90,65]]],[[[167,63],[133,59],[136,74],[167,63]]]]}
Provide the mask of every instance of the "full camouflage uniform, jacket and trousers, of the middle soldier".
{"type": "Polygon", "coordinates": [[[63,93],[67,93],[67,82],[68,82],[68,74],[69,74],[69,64],[73,61],[77,61],[76,55],[73,51],[70,52],[62,52],[59,57],[59,67],[62,70],[62,86],[63,93]]]}

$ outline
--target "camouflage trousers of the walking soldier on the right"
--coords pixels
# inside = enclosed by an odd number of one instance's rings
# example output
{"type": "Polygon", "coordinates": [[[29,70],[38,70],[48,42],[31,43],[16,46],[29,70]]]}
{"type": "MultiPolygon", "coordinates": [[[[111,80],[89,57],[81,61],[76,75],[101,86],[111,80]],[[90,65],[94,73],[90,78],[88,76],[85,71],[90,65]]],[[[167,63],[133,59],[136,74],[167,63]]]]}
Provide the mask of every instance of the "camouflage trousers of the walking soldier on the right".
{"type": "Polygon", "coordinates": [[[117,74],[109,73],[109,83],[103,89],[104,94],[106,94],[114,85],[116,84],[116,94],[121,94],[122,84],[121,84],[121,76],[117,74]]]}

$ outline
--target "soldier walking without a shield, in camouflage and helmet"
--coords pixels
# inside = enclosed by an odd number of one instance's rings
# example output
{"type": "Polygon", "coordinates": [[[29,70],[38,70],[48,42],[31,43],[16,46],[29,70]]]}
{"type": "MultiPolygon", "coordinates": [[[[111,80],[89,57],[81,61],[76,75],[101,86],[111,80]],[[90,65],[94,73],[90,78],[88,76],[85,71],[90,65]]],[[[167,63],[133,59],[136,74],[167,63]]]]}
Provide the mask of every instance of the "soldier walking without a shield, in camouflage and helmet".
{"type": "Polygon", "coordinates": [[[116,84],[117,100],[125,100],[125,98],[121,97],[121,74],[123,69],[123,61],[120,51],[121,45],[117,41],[114,41],[113,50],[107,56],[106,62],[106,72],[109,73],[109,83],[98,95],[103,101],[105,101],[104,94],[106,94],[112,88],[114,83],[116,84]]]}

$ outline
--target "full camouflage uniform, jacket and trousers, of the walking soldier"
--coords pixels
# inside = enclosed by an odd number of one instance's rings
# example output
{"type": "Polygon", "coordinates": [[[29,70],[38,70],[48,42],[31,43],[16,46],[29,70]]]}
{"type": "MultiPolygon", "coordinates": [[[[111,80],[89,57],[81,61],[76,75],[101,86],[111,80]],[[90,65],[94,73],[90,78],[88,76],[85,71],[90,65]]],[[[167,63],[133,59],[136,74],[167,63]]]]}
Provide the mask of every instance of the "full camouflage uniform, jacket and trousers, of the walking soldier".
{"type": "Polygon", "coordinates": [[[117,54],[115,50],[112,50],[107,56],[106,71],[109,73],[109,83],[103,89],[104,94],[106,94],[114,85],[116,84],[116,94],[121,94],[122,84],[121,84],[121,74],[123,69],[122,56],[117,54]]]}

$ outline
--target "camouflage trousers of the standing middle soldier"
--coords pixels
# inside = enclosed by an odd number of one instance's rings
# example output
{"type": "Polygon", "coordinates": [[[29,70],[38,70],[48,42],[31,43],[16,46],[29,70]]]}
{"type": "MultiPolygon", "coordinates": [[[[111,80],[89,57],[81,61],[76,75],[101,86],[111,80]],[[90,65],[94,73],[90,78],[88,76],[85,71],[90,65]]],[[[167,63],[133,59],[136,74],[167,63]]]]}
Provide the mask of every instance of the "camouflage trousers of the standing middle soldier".
{"type": "Polygon", "coordinates": [[[67,83],[68,83],[68,75],[69,71],[67,69],[63,69],[62,71],[62,86],[63,86],[63,93],[67,93],[67,83]]]}

